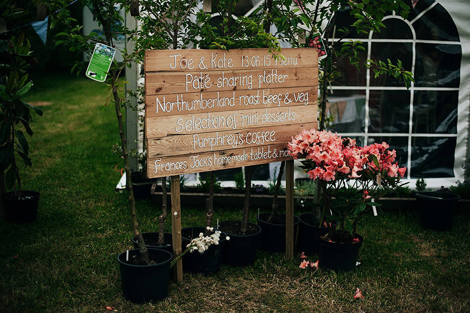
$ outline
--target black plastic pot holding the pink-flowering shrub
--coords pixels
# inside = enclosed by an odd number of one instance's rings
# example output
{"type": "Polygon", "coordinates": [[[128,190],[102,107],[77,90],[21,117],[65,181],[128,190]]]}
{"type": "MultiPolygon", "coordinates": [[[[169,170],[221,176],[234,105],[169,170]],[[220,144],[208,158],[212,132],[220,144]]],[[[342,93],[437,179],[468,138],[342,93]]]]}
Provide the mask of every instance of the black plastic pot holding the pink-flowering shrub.
{"type": "Polygon", "coordinates": [[[320,231],[317,236],[318,240],[318,266],[320,268],[330,269],[335,272],[348,272],[356,268],[359,249],[362,247],[364,239],[360,235],[356,235],[359,242],[355,243],[339,243],[329,242],[320,238],[327,231],[320,231]]]}

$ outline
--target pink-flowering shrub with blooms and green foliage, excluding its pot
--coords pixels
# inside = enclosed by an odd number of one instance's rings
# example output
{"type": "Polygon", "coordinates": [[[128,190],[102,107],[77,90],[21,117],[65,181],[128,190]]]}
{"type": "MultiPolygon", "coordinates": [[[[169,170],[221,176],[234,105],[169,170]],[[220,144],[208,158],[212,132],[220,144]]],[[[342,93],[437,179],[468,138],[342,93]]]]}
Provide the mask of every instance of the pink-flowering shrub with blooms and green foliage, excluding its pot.
{"type": "Polygon", "coordinates": [[[380,205],[376,200],[384,193],[404,185],[406,168],[398,166],[396,151],[386,143],[359,147],[354,139],[311,129],[292,137],[288,149],[318,181],[331,241],[353,242],[358,220],[380,205]]]}

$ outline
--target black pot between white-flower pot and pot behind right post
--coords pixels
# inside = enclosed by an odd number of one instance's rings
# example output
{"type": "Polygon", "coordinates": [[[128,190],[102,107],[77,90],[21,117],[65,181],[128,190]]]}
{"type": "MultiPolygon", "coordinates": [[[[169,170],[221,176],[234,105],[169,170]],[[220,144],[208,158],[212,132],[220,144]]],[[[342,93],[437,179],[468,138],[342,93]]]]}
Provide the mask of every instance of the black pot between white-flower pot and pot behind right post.
{"type": "MultiPolygon", "coordinates": [[[[221,229],[224,223],[241,221],[223,221],[219,224],[221,229]]],[[[235,235],[227,233],[230,240],[225,242],[222,263],[231,266],[248,266],[255,264],[258,244],[261,238],[261,227],[259,225],[248,223],[252,227],[258,228],[255,234],[235,235]]]]}

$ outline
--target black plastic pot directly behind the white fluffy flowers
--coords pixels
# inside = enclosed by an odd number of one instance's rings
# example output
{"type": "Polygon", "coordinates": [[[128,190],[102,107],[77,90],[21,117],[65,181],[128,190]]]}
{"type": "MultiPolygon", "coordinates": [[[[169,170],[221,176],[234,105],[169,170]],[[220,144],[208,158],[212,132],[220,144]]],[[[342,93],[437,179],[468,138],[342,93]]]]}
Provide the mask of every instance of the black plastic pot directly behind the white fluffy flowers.
{"type": "MultiPolygon", "coordinates": [[[[200,233],[204,233],[206,228],[204,227],[188,227],[181,230],[181,237],[183,241],[183,251],[186,249],[186,245],[191,239],[199,236],[200,233]]],[[[222,232],[220,234],[219,244],[212,244],[209,249],[203,253],[198,251],[187,253],[183,256],[183,271],[190,273],[200,273],[203,275],[212,275],[219,271],[220,265],[222,264],[222,255],[226,243],[226,234],[222,232]]]]}

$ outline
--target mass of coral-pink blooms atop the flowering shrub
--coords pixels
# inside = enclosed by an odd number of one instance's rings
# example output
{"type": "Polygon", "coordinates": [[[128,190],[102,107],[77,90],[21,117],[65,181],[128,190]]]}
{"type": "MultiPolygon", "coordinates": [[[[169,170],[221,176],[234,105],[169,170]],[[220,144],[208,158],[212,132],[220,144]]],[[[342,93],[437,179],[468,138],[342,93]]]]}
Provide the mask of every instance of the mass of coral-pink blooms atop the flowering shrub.
{"type": "Polygon", "coordinates": [[[305,158],[311,161],[312,167],[307,171],[309,177],[325,181],[345,176],[359,178],[364,169],[402,178],[406,168],[393,163],[396,152],[388,148],[386,143],[358,147],[354,139],[342,139],[336,133],[315,129],[304,129],[288,144],[289,153],[295,160],[305,158]]]}

